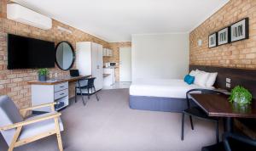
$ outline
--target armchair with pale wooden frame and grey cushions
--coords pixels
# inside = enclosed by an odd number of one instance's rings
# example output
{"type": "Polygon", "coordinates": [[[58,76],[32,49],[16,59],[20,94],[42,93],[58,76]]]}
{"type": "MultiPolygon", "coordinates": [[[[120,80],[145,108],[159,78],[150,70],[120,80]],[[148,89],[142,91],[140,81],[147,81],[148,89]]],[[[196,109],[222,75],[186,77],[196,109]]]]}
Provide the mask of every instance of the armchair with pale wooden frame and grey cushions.
{"type": "Polygon", "coordinates": [[[1,96],[0,131],[9,146],[8,151],[13,151],[16,147],[54,134],[57,137],[59,149],[62,151],[61,131],[63,131],[63,125],[60,118],[61,113],[55,112],[54,105],[55,103],[46,103],[19,110],[8,96],[1,96]],[[43,107],[50,107],[52,112],[25,119],[28,110],[43,107]]]}

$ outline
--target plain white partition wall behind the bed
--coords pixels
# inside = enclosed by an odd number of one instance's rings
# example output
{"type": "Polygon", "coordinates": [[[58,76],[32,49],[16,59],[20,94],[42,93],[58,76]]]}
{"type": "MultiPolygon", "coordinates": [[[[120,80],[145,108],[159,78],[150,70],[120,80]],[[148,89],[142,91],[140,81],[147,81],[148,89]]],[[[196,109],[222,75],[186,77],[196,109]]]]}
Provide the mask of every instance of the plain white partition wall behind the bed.
{"type": "Polygon", "coordinates": [[[133,35],[131,69],[132,81],[182,79],[189,72],[189,34],[133,35]]]}

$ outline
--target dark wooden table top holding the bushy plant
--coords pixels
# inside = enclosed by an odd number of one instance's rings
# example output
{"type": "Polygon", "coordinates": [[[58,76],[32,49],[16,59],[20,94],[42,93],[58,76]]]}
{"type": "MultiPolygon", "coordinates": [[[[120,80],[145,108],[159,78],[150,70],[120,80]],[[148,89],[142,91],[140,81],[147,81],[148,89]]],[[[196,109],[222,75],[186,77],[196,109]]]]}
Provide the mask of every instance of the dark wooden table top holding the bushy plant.
{"type": "Polygon", "coordinates": [[[229,96],[216,94],[190,94],[191,98],[209,116],[256,118],[256,103],[245,107],[230,103],[229,96]]]}

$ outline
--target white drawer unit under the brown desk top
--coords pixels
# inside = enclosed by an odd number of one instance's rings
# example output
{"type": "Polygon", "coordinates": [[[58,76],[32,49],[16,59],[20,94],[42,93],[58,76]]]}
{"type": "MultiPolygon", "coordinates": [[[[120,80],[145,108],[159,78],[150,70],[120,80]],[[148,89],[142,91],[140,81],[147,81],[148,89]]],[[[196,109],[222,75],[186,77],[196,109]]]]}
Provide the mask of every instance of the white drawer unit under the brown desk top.
{"type": "MultiPolygon", "coordinates": [[[[32,106],[56,102],[55,110],[60,110],[68,105],[68,82],[52,85],[42,83],[32,85],[32,106]]],[[[33,111],[50,112],[51,109],[44,107],[33,111]]]]}

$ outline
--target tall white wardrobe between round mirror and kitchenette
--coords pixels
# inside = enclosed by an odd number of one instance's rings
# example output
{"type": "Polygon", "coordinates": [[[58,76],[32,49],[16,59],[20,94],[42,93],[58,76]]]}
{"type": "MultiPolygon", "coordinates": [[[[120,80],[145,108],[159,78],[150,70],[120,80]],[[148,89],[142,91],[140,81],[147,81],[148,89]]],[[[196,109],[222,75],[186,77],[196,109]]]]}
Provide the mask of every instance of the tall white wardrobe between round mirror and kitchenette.
{"type": "Polygon", "coordinates": [[[103,87],[102,45],[95,42],[76,43],[76,64],[81,76],[96,77],[96,91],[103,87]]]}

